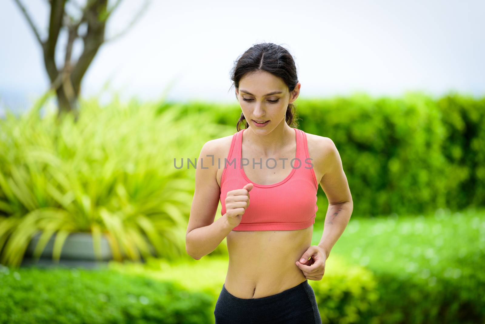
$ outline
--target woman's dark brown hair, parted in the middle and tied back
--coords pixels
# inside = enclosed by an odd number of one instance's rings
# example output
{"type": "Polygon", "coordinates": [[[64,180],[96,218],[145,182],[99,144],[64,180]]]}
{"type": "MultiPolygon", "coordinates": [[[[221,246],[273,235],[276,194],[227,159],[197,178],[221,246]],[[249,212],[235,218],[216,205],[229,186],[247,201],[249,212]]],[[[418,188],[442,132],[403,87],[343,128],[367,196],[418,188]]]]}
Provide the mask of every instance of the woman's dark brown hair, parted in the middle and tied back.
{"type": "MultiPolygon", "coordinates": [[[[236,89],[239,89],[239,82],[247,73],[256,71],[266,71],[280,78],[286,83],[291,93],[298,83],[296,66],[290,52],[273,43],[256,44],[242,53],[235,61],[234,67],[231,69],[231,81],[236,89]]],[[[236,94],[236,98],[237,98],[236,94]]],[[[286,110],[286,123],[290,127],[298,127],[297,114],[293,103],[288,104],[286,110]]],[[[241,113],[236,129],[241,130],[241,123],[244,120],[244,126],[249,127],[245,121],[244,114],[241,113]]]]}

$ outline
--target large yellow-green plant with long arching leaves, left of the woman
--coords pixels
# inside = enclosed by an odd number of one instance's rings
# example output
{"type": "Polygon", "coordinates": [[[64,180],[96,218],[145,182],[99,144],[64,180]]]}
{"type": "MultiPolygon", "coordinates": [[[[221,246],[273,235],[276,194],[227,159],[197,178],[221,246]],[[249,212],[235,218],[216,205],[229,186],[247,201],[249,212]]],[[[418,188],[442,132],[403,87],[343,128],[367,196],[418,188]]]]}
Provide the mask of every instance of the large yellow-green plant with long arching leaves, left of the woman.
{"type": "Polygon", "coordinates": [[[35,259],[55,234],[59,261],[72,232],[92,233],[97,258],[102,235],[116,260],[184,254],[195,174],[187,159],[196,165],[202,145],[231,128],[210,112],[117,96],[104,107],[81,101],[77,119],[41,116],[51,95],[0,119],[0,263],[19,266],[37,233],[35,259]]]}

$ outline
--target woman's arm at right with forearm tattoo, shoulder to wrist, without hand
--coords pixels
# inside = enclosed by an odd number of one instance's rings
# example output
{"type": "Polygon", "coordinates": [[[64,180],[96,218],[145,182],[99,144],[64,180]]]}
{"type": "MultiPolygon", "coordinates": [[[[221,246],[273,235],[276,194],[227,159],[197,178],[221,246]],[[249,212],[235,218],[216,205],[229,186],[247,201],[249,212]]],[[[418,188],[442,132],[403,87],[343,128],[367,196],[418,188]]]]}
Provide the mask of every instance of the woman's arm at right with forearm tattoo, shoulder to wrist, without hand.
{"type": "Polygon", "coordinates": [[[326,154],[322,159],[321,167],[325,171],[320,185],[328,198],[328,209],[325,215],[322,239],[318,246],[325,251],[326,258],[328,258],[330,250],[349,223],[354,203],[347,177],[343,172],[339,151],[331,139],[328,137],[324,139],[326,154]]]}

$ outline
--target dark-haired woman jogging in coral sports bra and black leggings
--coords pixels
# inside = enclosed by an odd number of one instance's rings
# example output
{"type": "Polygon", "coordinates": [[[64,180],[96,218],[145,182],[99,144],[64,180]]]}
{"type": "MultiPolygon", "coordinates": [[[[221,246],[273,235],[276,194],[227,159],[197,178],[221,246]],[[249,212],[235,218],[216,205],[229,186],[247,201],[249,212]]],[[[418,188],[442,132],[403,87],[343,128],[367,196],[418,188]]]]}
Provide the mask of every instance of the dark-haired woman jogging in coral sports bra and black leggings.
{"type": "Polygon", "coordinates": [[[292,127],[301,85],[288,50],[255,45],[232,72],[238,131],[201,149],[187,253],[200,259],[227,237],[216,324],[322,323],[308,279],[322,279],[353,210],[339,152],[331,139],[292,127]],[[329,206],[322,240],[310,245],[319,183],[329,206]]]}

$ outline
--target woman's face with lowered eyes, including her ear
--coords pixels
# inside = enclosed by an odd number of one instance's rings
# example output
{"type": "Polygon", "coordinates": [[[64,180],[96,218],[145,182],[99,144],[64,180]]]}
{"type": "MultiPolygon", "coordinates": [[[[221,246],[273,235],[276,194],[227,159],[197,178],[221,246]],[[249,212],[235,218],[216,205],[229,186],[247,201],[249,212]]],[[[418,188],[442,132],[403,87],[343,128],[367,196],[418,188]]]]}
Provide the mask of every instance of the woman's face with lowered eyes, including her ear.
{"type": "Polygon", "coordinates": [[[300,83],[290,94],[281,79],[269,72],[258,71],[242,77],[236,94],[242,113],[253,130],[274,130],[284,122],[288,104],[298,97],[299,89],[300,83]]]}

